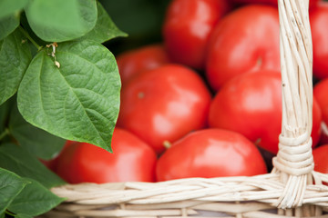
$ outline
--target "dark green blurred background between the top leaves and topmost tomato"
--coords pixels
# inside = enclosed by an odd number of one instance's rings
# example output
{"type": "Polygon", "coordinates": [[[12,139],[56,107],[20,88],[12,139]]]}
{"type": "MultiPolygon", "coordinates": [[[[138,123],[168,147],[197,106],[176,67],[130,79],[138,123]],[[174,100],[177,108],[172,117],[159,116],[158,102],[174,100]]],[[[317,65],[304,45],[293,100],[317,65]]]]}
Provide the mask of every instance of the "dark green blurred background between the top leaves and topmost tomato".
{"type": "Polygon", "coordinates": [[[100,0],[118,28],[128,34],[104,44],[113,54],[161,41],[161,25],[170,0],[100,0]]]}

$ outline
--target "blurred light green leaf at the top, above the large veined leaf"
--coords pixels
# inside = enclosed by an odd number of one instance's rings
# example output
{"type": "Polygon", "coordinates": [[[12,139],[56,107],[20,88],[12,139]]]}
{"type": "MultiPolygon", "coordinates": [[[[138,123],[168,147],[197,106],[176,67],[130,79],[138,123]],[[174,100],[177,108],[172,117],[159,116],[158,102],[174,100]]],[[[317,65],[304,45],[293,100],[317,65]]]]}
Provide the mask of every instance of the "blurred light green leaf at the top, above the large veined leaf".
{"type": "Polygon", "coordinates": [[[26,17],[32,30],[47,42],[76,39],[97,22],[96,0],[30,0],[26,17]]]}

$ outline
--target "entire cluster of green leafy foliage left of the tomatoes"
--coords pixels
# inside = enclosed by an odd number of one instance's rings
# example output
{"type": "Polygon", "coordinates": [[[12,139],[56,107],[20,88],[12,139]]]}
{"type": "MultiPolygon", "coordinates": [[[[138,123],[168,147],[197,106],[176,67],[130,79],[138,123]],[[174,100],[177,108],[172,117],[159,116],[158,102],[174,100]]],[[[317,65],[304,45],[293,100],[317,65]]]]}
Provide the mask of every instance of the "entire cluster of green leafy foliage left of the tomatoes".
{"type": "Polygon", "coordinates": [[[63,199],[38,159],[65,139],[111,152],[120,79],[102,45],[126,36],[96,0],[0,2],[0,217],[33,217],[63,199]]]}

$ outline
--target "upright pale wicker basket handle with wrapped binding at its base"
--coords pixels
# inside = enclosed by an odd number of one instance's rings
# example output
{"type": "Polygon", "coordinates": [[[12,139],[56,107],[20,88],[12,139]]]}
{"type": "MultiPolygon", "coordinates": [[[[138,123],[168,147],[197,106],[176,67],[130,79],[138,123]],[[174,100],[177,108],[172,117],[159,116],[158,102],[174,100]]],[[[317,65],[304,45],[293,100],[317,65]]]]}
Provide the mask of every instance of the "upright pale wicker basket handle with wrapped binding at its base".
{"type": "Polygon", "coordinates": [[[302,205],[312,182],[313,47],[309,0],[278,0],[282,70],[282,133],[273,159],[284,192],[278,208],[302,205]]]}

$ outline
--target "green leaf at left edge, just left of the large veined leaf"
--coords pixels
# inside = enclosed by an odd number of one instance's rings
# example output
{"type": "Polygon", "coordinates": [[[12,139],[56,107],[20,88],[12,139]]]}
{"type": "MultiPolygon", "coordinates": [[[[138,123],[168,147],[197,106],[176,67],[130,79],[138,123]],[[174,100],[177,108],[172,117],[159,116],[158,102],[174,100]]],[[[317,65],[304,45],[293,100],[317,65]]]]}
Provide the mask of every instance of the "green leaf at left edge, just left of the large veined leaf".
{"type": "Polygon", "coordinates": [[[26,38],[18,29],[0,41],[0,104],[15,94],[31,59],[26,38]]]}

